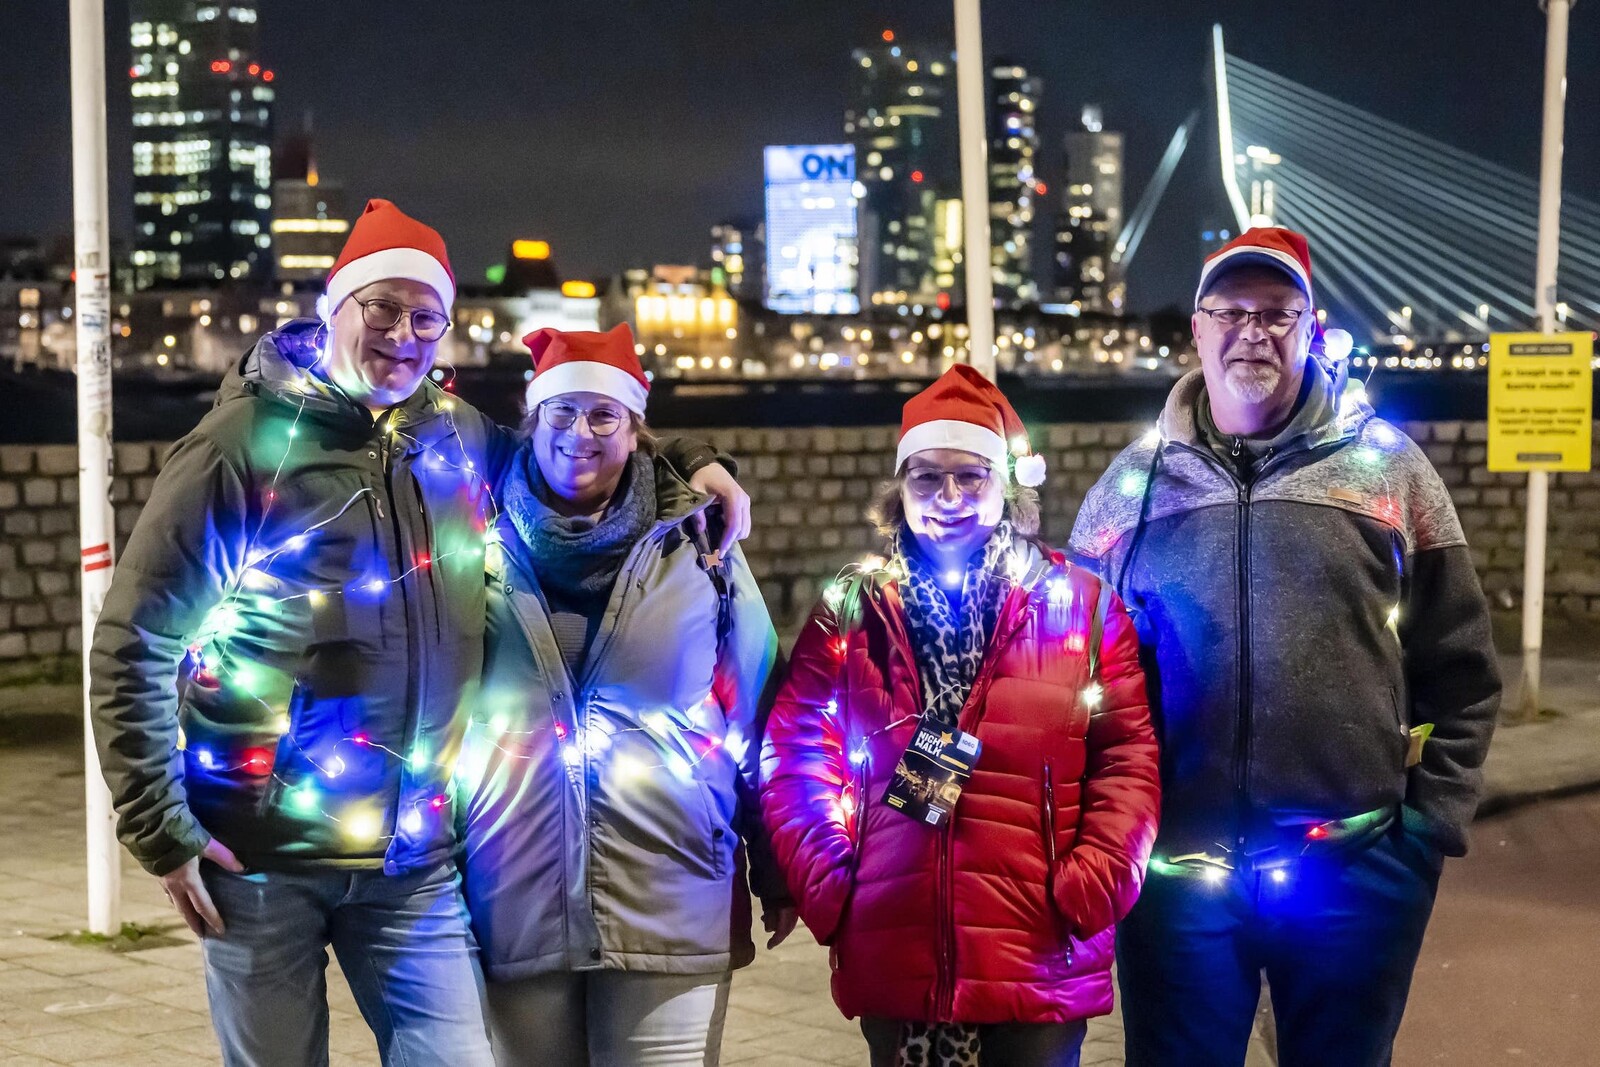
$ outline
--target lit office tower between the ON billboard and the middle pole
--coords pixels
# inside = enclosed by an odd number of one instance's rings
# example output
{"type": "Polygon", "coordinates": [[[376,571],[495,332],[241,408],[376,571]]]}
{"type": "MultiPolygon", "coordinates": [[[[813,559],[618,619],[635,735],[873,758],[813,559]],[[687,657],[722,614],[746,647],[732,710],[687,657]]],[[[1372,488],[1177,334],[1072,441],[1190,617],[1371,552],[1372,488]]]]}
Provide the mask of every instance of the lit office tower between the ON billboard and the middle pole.
{"type": "Polygon", "coordinates": [[[851,53],[845,138],[856,147],[862,306],[933,304],[957,286],[934,267],[939,200],[960,195],[955,61],[893,30],[851,53]]]}

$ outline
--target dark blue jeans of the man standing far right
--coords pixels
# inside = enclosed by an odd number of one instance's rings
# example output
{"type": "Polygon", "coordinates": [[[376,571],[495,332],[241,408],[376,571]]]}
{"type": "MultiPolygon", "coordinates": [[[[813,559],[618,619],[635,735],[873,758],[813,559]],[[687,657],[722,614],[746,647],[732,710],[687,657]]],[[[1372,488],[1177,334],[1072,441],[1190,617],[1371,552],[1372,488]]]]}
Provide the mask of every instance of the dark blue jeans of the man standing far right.
{"type": "Polygon", "coordinates": [[[1282,1067],[1381,1067],[1443,857],[1397,824],[1354,856],[1152,872],[1117,929],[1128,1067],[1238,1067],[1267,974],[1282,1067]]]}

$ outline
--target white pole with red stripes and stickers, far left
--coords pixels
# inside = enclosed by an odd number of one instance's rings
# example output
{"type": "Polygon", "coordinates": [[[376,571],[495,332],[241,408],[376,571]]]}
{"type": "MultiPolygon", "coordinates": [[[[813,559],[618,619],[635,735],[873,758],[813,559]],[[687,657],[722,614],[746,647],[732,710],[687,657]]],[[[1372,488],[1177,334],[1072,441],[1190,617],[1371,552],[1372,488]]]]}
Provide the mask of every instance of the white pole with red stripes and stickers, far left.
{"type": "Polygon", "coordinates": [[[122,853],[110,790],[90,729],[90,638],[110,587],[110,230],[106,221],[106,6],[72,0],[72,219],[78,331],[78,539],[83,600],[83,793],[90,933],[115,934],[122,853]]]}

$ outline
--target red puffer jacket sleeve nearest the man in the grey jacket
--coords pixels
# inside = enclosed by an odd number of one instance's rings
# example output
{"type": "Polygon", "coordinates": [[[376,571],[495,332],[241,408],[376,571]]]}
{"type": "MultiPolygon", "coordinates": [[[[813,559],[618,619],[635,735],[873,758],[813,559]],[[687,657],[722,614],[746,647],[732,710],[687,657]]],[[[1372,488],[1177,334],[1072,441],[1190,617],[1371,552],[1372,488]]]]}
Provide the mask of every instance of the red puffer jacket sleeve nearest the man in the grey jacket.
{"type": "Polygon", "coordinates": [[[1078,841],[1056,878],[1056,905],[1078,937],[1117,923],[1139,897],[1162,808],[1139,637],[1117,597],[1106,611],[1098,681],[1102,693],[1090,712],[1078,841]]]}

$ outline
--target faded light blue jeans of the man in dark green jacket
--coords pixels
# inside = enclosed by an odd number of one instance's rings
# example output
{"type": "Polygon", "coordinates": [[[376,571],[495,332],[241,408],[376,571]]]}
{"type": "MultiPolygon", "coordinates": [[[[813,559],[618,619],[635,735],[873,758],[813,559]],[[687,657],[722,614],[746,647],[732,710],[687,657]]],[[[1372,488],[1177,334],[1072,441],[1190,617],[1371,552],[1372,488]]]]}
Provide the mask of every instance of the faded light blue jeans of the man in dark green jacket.
{"type": "Polygon", "coordinates": [[[200,870],[227,926],[200,942],[227,1067],[326,1065],[328,945],[386,1067],[493,1067],[453,862],[403,875],[200,870]]]}

